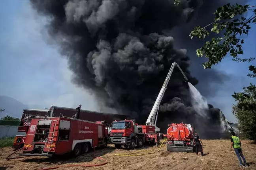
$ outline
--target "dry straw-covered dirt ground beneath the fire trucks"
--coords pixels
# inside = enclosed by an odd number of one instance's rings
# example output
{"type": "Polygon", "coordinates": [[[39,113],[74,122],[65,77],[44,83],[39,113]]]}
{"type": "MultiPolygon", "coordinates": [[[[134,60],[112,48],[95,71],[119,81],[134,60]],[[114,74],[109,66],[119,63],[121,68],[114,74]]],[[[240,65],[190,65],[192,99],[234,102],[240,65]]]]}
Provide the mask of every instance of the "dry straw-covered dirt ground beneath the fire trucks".
{"type": "MultiPolygon", "coordinates": [[[[205,156],[196,156],[195,153],[175,153],[168,152],[166,144],[163,144],[161,150],[156,146],[145,147],[141,150],[115,149],[113,145],[108,145],[105,149],[97,149],[95,156],[107,159],[108,163],[103,166],[95,167],[62,167],[57,170],[238,170],[239,161],[234,150],[230,150],[230,140],[203,140],[205,146],[203,151],[205,156]],[[156,152],[140,156],[117,156],[120,153],[132,152],[156,152]]],[[[242,141],[243,154],[251,170],[256,170],[256,145],[252,141],[242,141]]],[[[7,161],[5,158],[12,153],[9,147],[0,148],[0,170],[38,170],[41,168],[50,168],[52,166],[61,166],[67,164],[98,164],[104,161],[93,159],[93,152],[87,155],[81,155],[75,159],[66,158],[44,158],[44,157],[22,157],[12,155],[7,161]]],[[[137,153],[137,154],[139,154],[137,153]]]]}

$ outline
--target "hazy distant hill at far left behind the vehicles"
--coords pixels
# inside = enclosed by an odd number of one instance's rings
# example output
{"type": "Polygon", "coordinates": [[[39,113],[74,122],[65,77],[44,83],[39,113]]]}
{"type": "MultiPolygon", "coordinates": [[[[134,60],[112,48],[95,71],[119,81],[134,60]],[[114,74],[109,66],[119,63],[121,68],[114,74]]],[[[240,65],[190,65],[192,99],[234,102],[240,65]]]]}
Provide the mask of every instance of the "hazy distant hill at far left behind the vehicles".
{"type": "Polygon", "coordinates": [[[0,109],[4,109],[0,113],[0,118],[9,115],[16,118],[21,118],[23,113],[23,109],[45,109],[40,105],[26,105],[18,100],[8,97],[8,96],[0,96],[0,109]]]}

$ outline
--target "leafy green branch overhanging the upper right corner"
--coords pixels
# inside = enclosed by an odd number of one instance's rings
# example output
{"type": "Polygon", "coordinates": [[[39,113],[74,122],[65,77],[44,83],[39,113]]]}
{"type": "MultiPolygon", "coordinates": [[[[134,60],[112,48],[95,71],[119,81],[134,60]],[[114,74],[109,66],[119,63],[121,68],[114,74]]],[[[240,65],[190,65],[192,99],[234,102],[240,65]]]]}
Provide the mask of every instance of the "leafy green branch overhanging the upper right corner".
{"type": "Polygon", "coordinates": [[[248,35],[248,31],[251,29],[249,24],[255,22],[254,20],[256,19],[256,9],[254,9],[254,15],[250,18],[242,17],[242,14],[248,11],[248,8],[250,8],[249,5],[241,6],[236,4],[236,6],[231,6],[230,4],[226,4],[215,11],[214,22],[203,28],[198,26],[190,32],[189,36],[191,39],[193,37],[205,39],[209,35],[209,31],[206,30],[209,26],[213,27],[211,28],[211,32],[216,34],[223,33],[222,36],[205,42],[204,46],[196,51],[198,57],[205,56],[209,59],[203,63],[205,69],[211,68],[212,65],[220,62],[228,52],[235,59],[239,54],[243,54],[241,44],[244,44],[244,40],[237,38],[237,36],[248,35]],[[233,19],[237,15],[241,15],[241,17],[239,19],[233,19]]]}

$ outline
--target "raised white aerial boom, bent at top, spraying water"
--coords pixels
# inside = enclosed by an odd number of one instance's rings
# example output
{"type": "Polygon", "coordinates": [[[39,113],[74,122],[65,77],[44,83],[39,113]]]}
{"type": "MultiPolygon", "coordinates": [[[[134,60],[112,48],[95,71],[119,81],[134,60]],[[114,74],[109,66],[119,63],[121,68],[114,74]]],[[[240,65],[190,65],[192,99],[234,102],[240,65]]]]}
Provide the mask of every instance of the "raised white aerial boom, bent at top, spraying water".
{"type": "Polygon", "coordinates": [[[156,120],[157,120],[157,117],[158,117],[158,109],[159,109],[159,105],[160,105],[160,102],[162,101],[162,98],[164,96],[164,92],[166,91],[166,88],[167,88],[167,85],[169,83],[169,80],[170,80],[170,77],[171,77],[171,74],[173,72],[173,69],[175,67],[175,65],[177,65],[177,67],[179,68],[179,70],[181,71],[181,73],[183,74],[184,78],[185,78],[185,81],[187,82],[188,81],[188,78],[186,77],[186,75],[184,74],[184,72],[181,70],[181,67],[179,67],[179,65],[175,62],[172,63],[171,65],[171,68],[166,76],[166,79],[164,81],[164,84],[156,98],[156,101],[152,107],[152,110],[149,114],[149,117],[147,118],[147,122],[146,122],[146,125],[150,125],[150,126],[154,126],[155,127],[155,131],[156,132],[160,132],[160,129],[158,127],[156,127],[156,120]]]}

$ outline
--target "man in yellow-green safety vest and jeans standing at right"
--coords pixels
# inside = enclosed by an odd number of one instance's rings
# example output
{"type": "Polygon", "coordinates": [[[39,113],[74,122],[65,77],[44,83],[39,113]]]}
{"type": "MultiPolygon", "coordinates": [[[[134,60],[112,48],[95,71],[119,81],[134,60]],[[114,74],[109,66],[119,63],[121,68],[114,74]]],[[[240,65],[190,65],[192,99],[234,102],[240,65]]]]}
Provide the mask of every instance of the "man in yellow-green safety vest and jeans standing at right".
{"type": "Polygon", "coordinates": [[[239,166],[247,168],[248,166],[247,166],[247,163],[245,161],[245,157],[244,157],[244,155],[242,153],[241,141],[240,141],[239,137],[235,136],[234,132],[231,132],[230,141],[231,141],[231,148],[230,148],[230,150],[232,150],[232,148],[234,148],[235,153],[236,153],[236,155],[238,157],[238,160],[240,162],[239,166]],[[244,164],[243,164],[242,159],[241,159],[240,156],[243,158],[244,164]]]}

